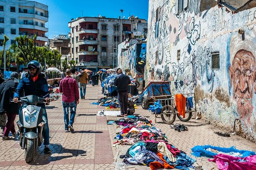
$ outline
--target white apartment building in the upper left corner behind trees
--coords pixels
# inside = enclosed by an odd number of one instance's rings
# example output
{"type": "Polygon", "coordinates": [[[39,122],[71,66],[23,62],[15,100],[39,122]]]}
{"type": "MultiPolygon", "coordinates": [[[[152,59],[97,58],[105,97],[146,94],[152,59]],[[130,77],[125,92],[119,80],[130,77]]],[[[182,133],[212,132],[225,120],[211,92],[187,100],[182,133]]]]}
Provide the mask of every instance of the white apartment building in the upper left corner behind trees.
{"type": "Polygon", "coordinates": [[[15,37],[27,35],[31,38],[36,34],[36,45],[42,47],[48,42],[46,27],[48,22],[48,6],[26,0],[1,0],[0,3],[0,50],[3,50],[3,35],[10,40],[8,49],[15,43],[15,37]]]}

